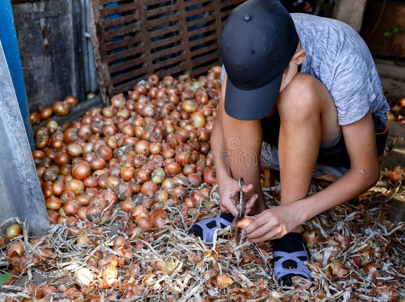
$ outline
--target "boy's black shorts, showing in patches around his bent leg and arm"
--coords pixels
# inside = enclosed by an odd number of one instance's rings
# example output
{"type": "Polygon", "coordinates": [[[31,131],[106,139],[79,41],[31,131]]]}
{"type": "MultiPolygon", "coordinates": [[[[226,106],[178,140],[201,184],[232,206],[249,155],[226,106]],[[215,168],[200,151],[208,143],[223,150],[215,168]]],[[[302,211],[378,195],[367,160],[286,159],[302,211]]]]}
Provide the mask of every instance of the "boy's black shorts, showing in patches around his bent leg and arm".
{"type": "MultiPolygon", "coordinates": [[[[378,156],[381,156],[384,153],[385,143],[387,142],[388,126],[374,117],[373,120],[378,156]]],[[[278,111],[275,111],[271,117],[262,119],[262,127],[263,141],[278,147],[278,135],[280,132],[280,116],[278,115],[278,111]]],[[[332,147],[320,148],[316,162],[326,166],[350,168],[350,158],[343,135],[332,147]]]]}

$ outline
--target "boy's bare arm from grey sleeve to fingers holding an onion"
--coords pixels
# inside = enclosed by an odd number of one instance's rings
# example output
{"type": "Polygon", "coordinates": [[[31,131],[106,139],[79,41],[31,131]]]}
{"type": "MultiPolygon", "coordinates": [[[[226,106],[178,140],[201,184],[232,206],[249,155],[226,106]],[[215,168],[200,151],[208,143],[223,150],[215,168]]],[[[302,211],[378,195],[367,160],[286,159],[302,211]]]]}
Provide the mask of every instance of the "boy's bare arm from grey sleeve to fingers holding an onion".
{"type": "Polygon", "coordinates": [[[281,238],[313,216],[365,192],[378,181],[380,165],[371,112],[358,122],[342,126],[342,129],[350,170],[325,190],[258,214],[244,230],[250,241],[281,238]]]}

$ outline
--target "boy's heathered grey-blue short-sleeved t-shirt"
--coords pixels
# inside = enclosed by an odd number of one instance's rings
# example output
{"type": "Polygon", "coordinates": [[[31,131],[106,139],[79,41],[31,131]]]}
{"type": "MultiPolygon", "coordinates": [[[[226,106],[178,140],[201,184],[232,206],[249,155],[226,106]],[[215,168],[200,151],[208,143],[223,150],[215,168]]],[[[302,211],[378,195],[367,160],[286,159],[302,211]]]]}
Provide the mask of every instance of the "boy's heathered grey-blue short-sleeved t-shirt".
{"type": "MultiPolygon", "coordinates": [[[[307,55],[301,72],[311,74],[331,93],[340,125],[362,119],[371,109],[385,123],[390,107],[373,57],[349,25],[307,14],[291,14],[307,55]]],[[[221,81],[225,77],[222,68],[221,81]]]]}

